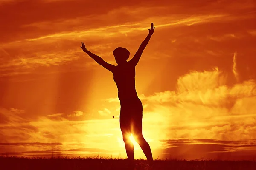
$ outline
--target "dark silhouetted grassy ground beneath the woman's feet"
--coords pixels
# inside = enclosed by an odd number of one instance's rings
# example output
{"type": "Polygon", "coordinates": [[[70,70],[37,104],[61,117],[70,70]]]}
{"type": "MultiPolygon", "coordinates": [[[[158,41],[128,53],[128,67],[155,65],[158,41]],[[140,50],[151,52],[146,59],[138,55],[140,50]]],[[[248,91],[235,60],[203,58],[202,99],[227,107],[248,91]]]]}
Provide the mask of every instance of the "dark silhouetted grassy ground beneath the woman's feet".
{"type": "MultiPolygon", "coordinates": [[[[256,170],[256,161],[135,160],[137,170],[256,170]]],[[[0,157],[1,170],[128,170],[127,159],[0,157]]]]}

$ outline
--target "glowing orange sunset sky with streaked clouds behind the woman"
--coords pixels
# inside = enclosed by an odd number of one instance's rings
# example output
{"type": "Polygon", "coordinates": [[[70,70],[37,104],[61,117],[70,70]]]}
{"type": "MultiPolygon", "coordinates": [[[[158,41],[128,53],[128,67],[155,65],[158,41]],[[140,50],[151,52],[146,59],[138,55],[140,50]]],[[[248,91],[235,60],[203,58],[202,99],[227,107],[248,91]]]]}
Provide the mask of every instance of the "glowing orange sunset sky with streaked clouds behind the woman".
{"type": "Polygon", "coordinates": [[[0,155],[126,158],[113,74],[80,46],[116,65],[151,22],[135,78],[153,158],[255,159],[255,0],[0,0],[0,155]]]}

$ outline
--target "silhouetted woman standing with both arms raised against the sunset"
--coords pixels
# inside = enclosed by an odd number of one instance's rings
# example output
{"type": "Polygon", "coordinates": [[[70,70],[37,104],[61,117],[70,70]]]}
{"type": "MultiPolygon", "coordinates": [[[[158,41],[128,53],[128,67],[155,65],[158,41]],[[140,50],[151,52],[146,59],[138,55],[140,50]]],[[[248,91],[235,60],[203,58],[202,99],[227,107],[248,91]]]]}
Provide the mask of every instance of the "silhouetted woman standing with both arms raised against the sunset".
{"type": "Polygon", "coordinates": [[[127,62],[130,52],[126,48],[118,47],[113,51],[116,63],[118,64],[117,66],[105,62],[101,57],[88,51],[83,42],[81,46],[83,51],[97,63],[113,73],[113,79],[118,88],[118,98],[121,105],[120,127],[125,142],[127,157],[132,166],[134,166],[134,145],[129,139],[131,134],[133,134],[134,140],[140,145],[148,161],[153,161],[150,146],[142,134],[143,107],[135,90],[135,66],[139,62],[142,52],[148,44],[151,35],[154,33],[153,27],[154,25],[151,23],[151,28],[148,29],[148,36],[142,42],[140,48],[130,61],[127,62]]]}

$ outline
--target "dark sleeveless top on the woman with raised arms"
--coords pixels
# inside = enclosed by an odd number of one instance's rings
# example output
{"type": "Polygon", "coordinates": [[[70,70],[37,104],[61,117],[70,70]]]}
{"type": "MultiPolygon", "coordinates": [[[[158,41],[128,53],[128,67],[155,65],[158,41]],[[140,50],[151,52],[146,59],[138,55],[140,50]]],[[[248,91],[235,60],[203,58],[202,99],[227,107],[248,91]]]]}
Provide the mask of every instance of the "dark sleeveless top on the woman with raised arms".
{"type": "Polygon", "coordinates": [[[117,65],[113,71],[113,79],[118,89],[119,100],[138,98],[135,89],[135,67],[129,64],[117,65]]]}

